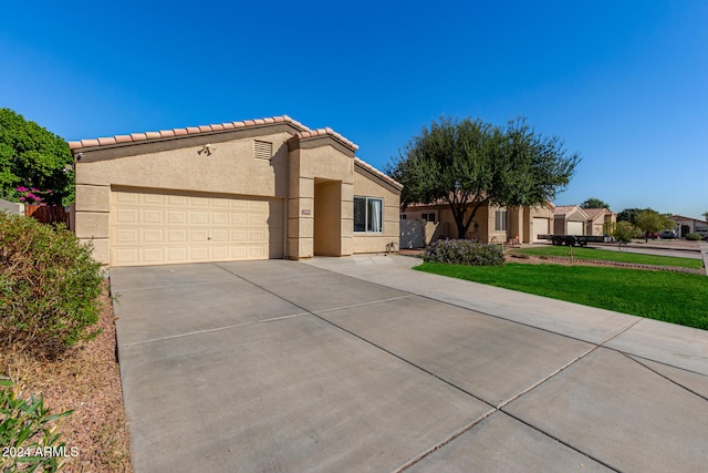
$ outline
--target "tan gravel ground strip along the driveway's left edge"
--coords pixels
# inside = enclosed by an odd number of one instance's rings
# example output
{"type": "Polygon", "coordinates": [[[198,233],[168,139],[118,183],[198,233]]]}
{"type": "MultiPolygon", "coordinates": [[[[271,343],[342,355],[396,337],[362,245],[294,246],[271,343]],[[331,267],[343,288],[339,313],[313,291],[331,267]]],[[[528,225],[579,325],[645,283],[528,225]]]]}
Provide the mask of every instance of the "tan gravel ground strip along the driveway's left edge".
{"type": "Polygon", "coordinates": [[[96,327],[103,332],[62,359],[40,362],[19,352],[0,353],[0,372],[19,381],[23,398],[44,395],[53,413],[74,410],[59,425],[61,441],[79,451],[67,457],[64,470],[70,472],[133,471],[107,284],[102,302],[96,327]]]}

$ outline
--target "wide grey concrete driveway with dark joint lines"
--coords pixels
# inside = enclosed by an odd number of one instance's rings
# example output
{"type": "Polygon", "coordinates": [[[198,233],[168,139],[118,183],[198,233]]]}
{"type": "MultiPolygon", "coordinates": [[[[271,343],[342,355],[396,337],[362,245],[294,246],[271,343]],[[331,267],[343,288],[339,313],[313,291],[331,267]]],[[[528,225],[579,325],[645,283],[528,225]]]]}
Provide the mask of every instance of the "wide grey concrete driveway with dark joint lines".
{"type": "Polygon", "coordinates": [[[708,332],[415,261],[112,269],[135,471],[706,469],[708,332]]]}

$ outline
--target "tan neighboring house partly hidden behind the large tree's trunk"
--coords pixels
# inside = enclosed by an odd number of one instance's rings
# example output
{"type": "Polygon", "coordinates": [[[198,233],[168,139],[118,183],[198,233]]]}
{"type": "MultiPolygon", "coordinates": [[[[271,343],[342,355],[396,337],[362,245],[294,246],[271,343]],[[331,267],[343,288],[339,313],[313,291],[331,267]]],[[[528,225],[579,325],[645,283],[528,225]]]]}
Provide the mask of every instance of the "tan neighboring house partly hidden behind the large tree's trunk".
{"type": "MultiPolygon", "coordinates": [[[[468,209],[467,215],[470,212],[471,208],[468,209]]],[[[465,238],[479,241],[507,241],[518,237],[520,243],[540,241],[539,235],[550,233],[552,217],[553,204],[551,203],[533,208],[507,208],[483,204],[477,210],[465,238]]],[[[458,237],[452,210],[445,203],[410,205],[400,213],[400,218],[427,223],[426,244],[429,244],[430,239],[458,237]],[[435,223],[436,227],[430,228],[429,223],[435,223]]],[[[405,245],[402,243],[403,247],[405,245]]]]}

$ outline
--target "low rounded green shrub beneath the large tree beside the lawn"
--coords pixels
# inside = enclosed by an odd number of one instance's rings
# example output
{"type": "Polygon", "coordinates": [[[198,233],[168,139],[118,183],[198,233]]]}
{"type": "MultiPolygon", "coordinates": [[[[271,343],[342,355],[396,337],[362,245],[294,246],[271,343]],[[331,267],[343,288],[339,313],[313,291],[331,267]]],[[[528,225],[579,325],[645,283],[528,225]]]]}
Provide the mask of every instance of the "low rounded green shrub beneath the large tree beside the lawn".
{"type": "Polygon", "coordinates": [[[430,245],[423,259],[451,265],[499,266],[504,264],[504,254],[500,245],[470,239],[440,239],[430,245]]]}

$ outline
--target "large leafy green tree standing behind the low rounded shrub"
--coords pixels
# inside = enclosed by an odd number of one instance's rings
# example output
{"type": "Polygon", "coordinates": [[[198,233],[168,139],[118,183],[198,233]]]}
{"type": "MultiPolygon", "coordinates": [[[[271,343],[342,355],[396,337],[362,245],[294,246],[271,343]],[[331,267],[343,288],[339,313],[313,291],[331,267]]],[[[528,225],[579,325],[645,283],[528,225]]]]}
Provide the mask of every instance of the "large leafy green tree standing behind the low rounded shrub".
{"type": "Polygon", "coordinates": [[[524,120],[499,127],[479,119],[441,117],[424,126],[386,172],[404,185],[404,209],[446,203],[464,238],[487,203],[520,207],[552,200],[579,162],[560,138],[538,134],[524,120]]]}

